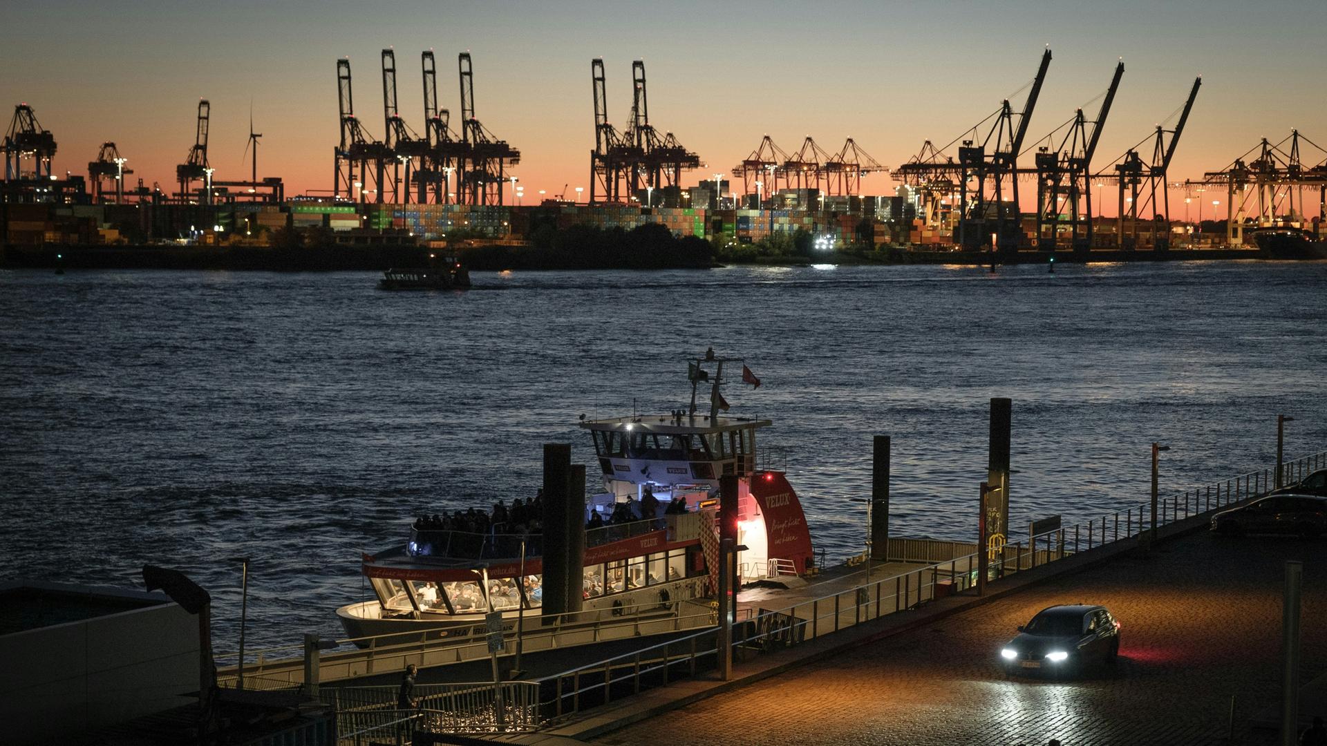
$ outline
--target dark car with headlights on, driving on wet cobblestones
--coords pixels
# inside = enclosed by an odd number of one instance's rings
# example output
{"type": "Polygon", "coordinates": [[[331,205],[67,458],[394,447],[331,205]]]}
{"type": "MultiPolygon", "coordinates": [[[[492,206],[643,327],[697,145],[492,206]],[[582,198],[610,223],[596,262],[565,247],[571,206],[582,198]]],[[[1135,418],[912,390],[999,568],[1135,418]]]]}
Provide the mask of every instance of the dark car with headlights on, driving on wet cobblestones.
{"type": "Polygon", "coordinates": [[[1105,607],[1047,607],[1018,628],[1001,652],[1005,676],[1082,673],[1092,664],[1113,665],[1120,654],[1120,623],[1105,607]]]}

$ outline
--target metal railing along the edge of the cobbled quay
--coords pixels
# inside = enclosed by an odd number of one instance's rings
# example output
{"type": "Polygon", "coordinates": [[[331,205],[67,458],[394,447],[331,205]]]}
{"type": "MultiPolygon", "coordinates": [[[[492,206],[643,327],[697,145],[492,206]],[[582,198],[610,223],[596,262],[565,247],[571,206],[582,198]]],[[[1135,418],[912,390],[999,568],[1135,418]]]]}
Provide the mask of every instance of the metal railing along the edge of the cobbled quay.
{"type": "MultiPolygon", "coordinates": [[[[1302,479],[1308,473],[1327,465],[1327,451],[1287,462],[1285,482],[1302,479]]],[[[1186,518],[1220,510],[1267,492],[1275,483],[1274,470],[1250,471],[1223,482],[1213,482],[1194,490],[1158,496],[1157,518],[1152,523],[1151,502],[1127,507],[1123,512],[1092,518],[1067,528],[1058,528],[1007,543],[990,551],[987,580],[995,581],[1038,565],[1058,561],[1104,544],[1139,536],[1153,527],[1166,526],[1186,518]]],[[[975,544],[953,542],[937,547],[934,542],[918,542],[909,547],[906,540],[898,554],[941,552],[955,554],[975,544]]],[[[940,543],[943,544],[943,543],[940,543]]],[[[890,556],[894,552],[890,540],[890,556]]],[[[926,601],[971,588],[977,583],[978,554],[967,551],[941,561],[872,580],[855,588],[829,593],[780,609],[759,609],[748,619],[738,621],[733,633],[733,653],[736,662],[760,652],[787,648],[805,640],[857,627],[867,621],[916,608],[926,601]]],[[[641,689],[661,686],[669,681],[718,665],[718,629],[706,629],[670,642],[654,645],[604,661],[592,662],[540,680],[539,714],[544,725],[568,718],[583,710],[606,704],[614,698],[638,693],[641,689]]]]}

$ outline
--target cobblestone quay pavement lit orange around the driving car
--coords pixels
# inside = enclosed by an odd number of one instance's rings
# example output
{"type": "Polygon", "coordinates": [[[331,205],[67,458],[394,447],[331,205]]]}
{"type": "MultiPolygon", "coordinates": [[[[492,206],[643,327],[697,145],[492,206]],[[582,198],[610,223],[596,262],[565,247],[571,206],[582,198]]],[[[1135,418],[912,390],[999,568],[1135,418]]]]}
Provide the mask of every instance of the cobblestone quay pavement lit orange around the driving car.
{"type": "Polygon", "coordinates": [[[1247,726],[1279,701],[1283,563],[1304,563],[1303,680],[1327,669],[1327,542],[1206,531],[1125,555],[933,625],[703,700],[596,742],[722,746],[1064,746],[1269,742],[1247,726]],[[1036,611],[1099,603],[1120,661],[1072,681],[1006,680],[999,648],[1036,611]]]}

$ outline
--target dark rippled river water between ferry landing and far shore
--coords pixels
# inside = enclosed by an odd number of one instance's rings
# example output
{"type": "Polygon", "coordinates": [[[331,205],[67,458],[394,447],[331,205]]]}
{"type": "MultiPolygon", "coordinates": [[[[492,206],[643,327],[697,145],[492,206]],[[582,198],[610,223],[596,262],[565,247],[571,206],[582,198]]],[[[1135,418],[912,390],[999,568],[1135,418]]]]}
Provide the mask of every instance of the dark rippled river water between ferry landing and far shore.
{"type": "MultiPolygon", "coordinates": [[[[987,408],[1014,400],[1014,526],[1327,445],[1327,263],[476,273],[0,272],[0,577],[141,587],[178,567],[234,649],[338,634],[358,554],[413,515],[528,496],[540,443],[682,406],[686,354],[740,354],[817,547],[860,551],[871,435],[893,524],[967,538],[987,408]]],[[[592,469],[593,474],[596,470],[592,469]]]]}

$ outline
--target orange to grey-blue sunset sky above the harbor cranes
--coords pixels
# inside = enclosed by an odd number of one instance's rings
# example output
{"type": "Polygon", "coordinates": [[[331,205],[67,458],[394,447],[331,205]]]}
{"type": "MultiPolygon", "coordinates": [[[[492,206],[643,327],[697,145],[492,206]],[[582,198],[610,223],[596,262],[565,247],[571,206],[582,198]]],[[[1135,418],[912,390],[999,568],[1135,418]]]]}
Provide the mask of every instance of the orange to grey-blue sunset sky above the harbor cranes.
{"type": "MultiPolygon", "coordinates": [[[[1327,7],[1316,1],[1032,0],[937,3],[7,3],[0,102],[33,106],[58,142],[56,173],[86,173],[118,143],[129,183],[171,188],[212,108],[216,179],[247,178],[249,102],[263,133],[259,177],[287,194],[329,190],[337,142],[336,60],[349,56],[356,113],[382,137],[380,50],[397,50],[399,106],[423,130],[419,52],[438,56],[439,97],[459,119],[456,53],[470,50],[478,118],[522,151],[527,195],[588,187],[589,62],[602,57],[610,119],[630,108],[645,60],[650,121],[706,167],[729,173],[768,133],[792,151],[844,138],[886,166],[925,139],[959,137],[1020,92],[1054,53],[1028,143],[1097,96],[1117,57],[1124,80],[1095,161],[1104,167],[1170,117],[1202,74],[1172,181],[1201,178],[1299,127],[1327,146],[1327,7]],[[1157,5],[1161,5],[1157,9],[1157,5]]],[[[7,109],[8,117],[12,109],[7,109]]],[[[982,133],[985,134],[985,133],[982,133]]],[[[1151,146],[1144,157],[1151,154],[1151,146]]],[[[1327,154],[1307,147],[1316,163],[1327,154]]],[[[1031,155],[1024,159],[1031,165],[1031,155]]],[[[892,192],[886,175],[867,194],[892,192]]],[[[1028,187],[1030,190],[1034,187],[1028,187]]],[[[528,198],[527,198],[528,202],[528,198]]],[[[1109,199],[1107,202],[1111,202],[1109,199]]],[[[1209,199],[1210,204],[1210,199],[1209,199]]],[[[1182,218],[1182,200],[1172,208],[1182,218]]]]}

